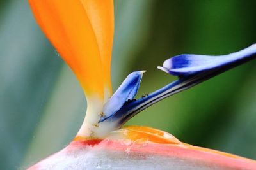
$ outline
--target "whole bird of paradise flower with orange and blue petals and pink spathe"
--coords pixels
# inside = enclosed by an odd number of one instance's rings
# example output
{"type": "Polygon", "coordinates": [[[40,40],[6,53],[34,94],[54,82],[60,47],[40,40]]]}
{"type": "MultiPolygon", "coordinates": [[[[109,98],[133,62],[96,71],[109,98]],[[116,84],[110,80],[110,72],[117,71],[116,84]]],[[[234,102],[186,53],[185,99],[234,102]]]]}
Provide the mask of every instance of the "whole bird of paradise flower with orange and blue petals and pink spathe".
{"type": "Polygon", "coordinates": [[[87,99],[81,129],[66,148],[29,169],[256,169],[254,160],[191,146],[150,127],[122,127],[148,106],[255,59],[256,45],[221,56],[177,55],[159,69],[178,79],[140,99],[145,71],[112,94],[112,0],[29,0],[52,45],[76,74],[87,99]]]}

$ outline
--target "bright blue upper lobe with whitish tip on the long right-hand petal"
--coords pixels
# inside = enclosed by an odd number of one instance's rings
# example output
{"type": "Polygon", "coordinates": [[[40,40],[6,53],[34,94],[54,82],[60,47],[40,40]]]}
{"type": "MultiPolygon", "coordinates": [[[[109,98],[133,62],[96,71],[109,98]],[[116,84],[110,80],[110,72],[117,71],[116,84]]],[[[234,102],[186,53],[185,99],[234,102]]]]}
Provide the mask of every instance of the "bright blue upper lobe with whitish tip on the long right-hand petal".
{"type": "Polygon", "coordinates": [[[203,71],[237,66],[249,59],[254,59],[256,57],[255,50],[256,45],[252,45],[244,50],[228,55],[177,55],[164,61],[163,67],[158,68],[174,76],[189,76],[203,71]]]}

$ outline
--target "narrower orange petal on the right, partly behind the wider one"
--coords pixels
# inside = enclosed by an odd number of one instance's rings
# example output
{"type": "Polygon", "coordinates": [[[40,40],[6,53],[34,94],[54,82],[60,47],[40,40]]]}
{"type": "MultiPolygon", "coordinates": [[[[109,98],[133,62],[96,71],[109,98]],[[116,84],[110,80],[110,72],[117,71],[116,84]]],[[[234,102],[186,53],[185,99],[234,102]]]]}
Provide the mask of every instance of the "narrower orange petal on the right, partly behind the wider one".
{"type": "Polygon", "coordinates": [[[108,90],[105,98],[111,95],[111,52],[114,36],[113,0],[81,0],[95,32],[103,67],[104,85],[108,90]]]}

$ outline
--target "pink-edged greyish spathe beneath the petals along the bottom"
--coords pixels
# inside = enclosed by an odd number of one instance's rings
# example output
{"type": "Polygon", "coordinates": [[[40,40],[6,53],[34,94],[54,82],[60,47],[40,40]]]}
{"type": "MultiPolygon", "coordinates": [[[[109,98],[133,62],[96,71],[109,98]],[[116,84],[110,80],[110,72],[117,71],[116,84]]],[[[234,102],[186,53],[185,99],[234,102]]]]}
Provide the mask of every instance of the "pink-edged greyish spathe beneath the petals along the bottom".
{"type": "Polygon", "coordinates": [[[58,153],[29,169],[256,169],[256,161],[197,146],[136,143],[129,140],[73,141],[58,153]]]}

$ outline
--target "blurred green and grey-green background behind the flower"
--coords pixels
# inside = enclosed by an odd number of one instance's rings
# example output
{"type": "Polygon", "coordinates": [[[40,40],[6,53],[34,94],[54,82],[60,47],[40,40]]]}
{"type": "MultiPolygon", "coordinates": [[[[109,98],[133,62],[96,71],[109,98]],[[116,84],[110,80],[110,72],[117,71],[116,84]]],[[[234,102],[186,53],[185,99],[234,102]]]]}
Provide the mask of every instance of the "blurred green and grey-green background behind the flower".
{"type": "MultiPolygon", "coordinates": [[[[114,90],[147,70],[138,97],[175,80],[156,69],[180,53],[221,55],[256,43],[256,1],[115,0],[114,90]]],[[[256,159],[256,60],[164,99],[127,124],[256,159]]],[[[66,146],[86,99],[27,1],[0,0],[0,169],[24,169],[66,146]]]]}

